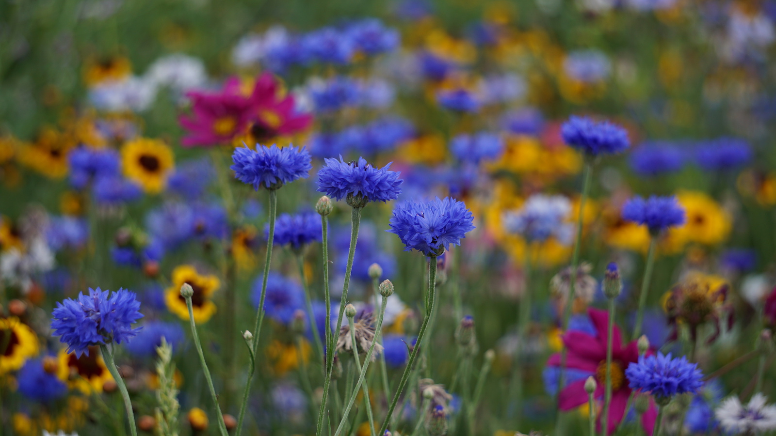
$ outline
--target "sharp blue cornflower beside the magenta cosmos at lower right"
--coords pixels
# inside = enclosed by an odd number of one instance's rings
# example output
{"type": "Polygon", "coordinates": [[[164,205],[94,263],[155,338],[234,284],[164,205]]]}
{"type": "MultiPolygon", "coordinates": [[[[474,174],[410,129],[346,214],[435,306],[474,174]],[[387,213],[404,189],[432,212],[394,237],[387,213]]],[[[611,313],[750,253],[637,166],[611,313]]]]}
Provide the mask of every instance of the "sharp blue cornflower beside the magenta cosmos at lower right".
{"type": "Polygon", "coordinates": [[[651,393],[656,398],[670,398],[681,393],[695,393],[703,387],[703,374],[697,363],[671,354],[641,356],[638,363],[625,369],[631,389],[651,393]]]}

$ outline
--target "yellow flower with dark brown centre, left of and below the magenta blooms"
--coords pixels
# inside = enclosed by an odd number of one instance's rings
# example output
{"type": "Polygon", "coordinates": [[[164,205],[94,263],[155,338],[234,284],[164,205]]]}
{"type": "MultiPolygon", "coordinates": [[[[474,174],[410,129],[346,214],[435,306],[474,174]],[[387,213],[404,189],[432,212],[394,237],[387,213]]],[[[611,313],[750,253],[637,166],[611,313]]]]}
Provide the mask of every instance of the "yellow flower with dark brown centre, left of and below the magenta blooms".
{"type": "Polygon", "coordinates": [[[139,138],[121,148],[121,164],[126,178],[137,182],[146,192],[157,194],[165,189],[175,168],[170,147],[161,140],[139,138]]]}

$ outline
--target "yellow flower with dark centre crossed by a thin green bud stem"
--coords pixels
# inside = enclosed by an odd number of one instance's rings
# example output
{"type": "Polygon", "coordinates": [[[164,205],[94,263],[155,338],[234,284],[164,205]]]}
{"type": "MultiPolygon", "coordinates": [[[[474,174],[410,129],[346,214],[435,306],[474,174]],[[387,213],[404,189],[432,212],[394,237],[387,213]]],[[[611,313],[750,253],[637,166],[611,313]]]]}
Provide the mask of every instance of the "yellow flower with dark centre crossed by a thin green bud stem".
{"type": "Polygon", "coordinates": [[[191,265],[180,265],[172,270],[172,285],[165,292],[167,309],[182,320],[189,320],[189,308],[181,296],[181,286],[189,283],[194,290],[192,313],[196,324],[206,323],[216,313],[216,304],[210,299],[221,282],[215,275],[199,275],[191,265]]]}

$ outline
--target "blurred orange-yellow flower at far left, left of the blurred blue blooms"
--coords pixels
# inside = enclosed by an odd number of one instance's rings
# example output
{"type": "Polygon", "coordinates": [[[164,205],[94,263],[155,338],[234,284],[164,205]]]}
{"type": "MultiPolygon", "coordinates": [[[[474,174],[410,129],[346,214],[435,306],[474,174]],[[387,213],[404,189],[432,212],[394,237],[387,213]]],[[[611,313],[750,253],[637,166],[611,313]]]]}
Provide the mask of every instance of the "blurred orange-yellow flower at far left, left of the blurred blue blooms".
{"type": "Polygon", "coordinates": [[[68,153],[74,140],[53,127],[43,127],[34,144],[19,148],[19,162],[48,178],[68,174],[68,153]]]}

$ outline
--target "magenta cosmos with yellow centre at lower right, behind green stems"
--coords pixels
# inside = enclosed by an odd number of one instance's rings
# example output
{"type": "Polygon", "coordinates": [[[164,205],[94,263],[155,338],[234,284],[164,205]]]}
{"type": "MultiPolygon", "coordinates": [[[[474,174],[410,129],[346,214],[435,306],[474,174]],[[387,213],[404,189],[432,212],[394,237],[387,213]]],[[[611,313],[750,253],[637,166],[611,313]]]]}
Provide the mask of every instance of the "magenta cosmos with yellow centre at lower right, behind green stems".
{"type": "MultiPolygon", "coordinates": [[[[597,400],[604,400],[604,389],[606,380],[606,346],[608,334],[608,312],[606,310],[588,309],[588,315],[595,327],[596,334],[590,334],[569,330],[563,334],[563,344],[566,346],[566,368],[580,369],[591,372],[595,375],[598,387],[595,390],[594,397],[597,400]]],[[[628,379],[625,378],[625,369],[632,362],[639,361],[639,348],[636,341],[629,344],[622,344],[622,332],[615,325],[611,348],[611,403],[609,405],[609,420],[607,423],[607,434],[612,434],[620,421],[624,418],[625,407],[631,394],[628,386],[628,379]]],[[[647,351],[648,355],[653,354],[647,351]]],[[[552,355],[547,362],[549,366],[560,366],[560,354],[552,355]]],[[[571,410],[587,403],[587,392],[584,390],[585,379],[570,382],[559,394],[560,410],[571,410]]],[[[601,403],[603,410],[603,403],[601,403]]],[[[652,434],[655,426],[657,410],[654,403],[650,400],[650,408],[642,416],[641,424],[646,434],[652,434]]],[[[601,414],[598,416],[598,427],[601,427],[601,414]]]]}

